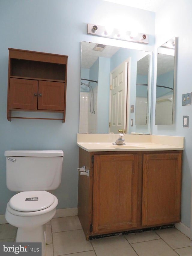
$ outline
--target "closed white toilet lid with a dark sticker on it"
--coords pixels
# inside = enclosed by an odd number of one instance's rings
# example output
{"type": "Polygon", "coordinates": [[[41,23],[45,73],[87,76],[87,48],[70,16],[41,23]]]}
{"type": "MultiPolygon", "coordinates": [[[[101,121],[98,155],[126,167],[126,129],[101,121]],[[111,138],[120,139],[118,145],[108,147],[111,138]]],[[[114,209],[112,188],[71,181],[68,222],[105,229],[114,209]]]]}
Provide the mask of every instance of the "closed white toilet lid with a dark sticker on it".
{"type": "Polygon", "coordinates": [[[11,197],[9,205],[16,211],[35,212],[48,208],[54,200],[54,196],[47,191],[25,191],[11,197]]]}

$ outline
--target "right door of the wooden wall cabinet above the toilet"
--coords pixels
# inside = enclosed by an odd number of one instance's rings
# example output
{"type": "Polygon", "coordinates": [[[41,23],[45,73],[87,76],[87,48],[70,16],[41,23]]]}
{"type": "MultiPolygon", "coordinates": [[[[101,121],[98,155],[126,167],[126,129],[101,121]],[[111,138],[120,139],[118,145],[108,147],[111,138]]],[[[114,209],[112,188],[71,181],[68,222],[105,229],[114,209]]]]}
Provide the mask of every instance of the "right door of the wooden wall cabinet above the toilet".
{"type": "Polygon", "coordinates": [[[39,110],[64,110],[64,98],[64,82],[39,81],[39,110]]]}

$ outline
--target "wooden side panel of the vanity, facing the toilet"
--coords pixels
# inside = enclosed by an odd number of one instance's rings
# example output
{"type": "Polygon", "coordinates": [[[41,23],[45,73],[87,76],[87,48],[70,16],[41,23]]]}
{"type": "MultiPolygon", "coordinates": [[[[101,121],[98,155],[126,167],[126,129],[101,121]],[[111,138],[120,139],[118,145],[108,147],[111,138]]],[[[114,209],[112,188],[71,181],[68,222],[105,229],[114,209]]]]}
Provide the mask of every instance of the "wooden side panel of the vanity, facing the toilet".
{"type": "Polygon", "coordinates": [[[93,164],[91,163],[91,152],[79,148],[79,167],[85,165],[90,170],[89,177],[80,175],[78,181],[78,216],[86,238],[90,235],[92,224],[92,187],[93,187],[93,164]]]}

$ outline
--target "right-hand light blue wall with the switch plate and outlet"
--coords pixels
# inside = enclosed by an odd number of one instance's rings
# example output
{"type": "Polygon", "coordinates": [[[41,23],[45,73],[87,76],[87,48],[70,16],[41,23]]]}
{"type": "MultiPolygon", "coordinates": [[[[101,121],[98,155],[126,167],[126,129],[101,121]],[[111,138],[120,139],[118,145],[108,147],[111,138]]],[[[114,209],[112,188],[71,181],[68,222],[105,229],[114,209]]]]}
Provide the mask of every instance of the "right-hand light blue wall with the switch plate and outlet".
{"type": "MultiPolygon", "coordinates": [[[[182,94],[192,91],[192,1],[178,0],[167,1],[166,8],[156,13],[155,38],[156,47],[174,36],[178,36],[178,65],[177,65],[177,89],[176,89],[176,118],[174,125],[155,125],[155,107],[152,113],[152,133],[162,135],[174,135],[185,137],[185,150],[183,154],[183,178],[182,178],[182,210],[181,221],[190,227],[191,206],[191,174],[192,174],[192,105],[182,106],[182,94]],[[183,128],[183,116],[189,116],[189,128],[183,128]]],[[[156,56],[156,55],[155,55],[156,56]]],[[[155,59],[157,63],[157,59],[155,59]]],[[[154,72],[154,77],[156,70],[154,72]]],[[[154,80],[156,84],[156,79],[154,80]]],[[[155,94],[154,101],[155,106],[155,94]]]]}

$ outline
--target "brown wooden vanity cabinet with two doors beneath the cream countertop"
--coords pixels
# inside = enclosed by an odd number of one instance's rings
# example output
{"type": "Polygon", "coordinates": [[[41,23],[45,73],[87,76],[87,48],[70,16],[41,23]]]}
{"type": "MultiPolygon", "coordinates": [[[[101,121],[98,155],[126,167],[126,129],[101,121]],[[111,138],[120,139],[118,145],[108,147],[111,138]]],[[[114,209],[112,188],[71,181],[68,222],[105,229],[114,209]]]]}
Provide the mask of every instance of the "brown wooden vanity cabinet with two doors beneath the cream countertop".
{"type": "Polygon", "coordinates": [[[87,239],[180,221],[182,150],[79,148],[78,215],[87,239]]]}

